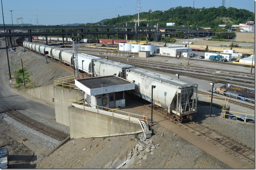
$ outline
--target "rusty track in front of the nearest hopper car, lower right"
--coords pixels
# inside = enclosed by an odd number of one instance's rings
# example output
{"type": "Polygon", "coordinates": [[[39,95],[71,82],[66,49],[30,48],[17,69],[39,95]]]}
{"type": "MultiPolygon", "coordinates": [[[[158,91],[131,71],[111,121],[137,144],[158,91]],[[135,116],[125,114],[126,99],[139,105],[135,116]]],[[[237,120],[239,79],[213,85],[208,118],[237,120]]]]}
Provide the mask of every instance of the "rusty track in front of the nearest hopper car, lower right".
{"type": "MultiPolygon", "coordinates": [[[[151,109],[151,105],[144,105],[146,108],[151,109]]],[[[153,112],[164,117],[169,118],[167,116],[166,110],[156,110],[153,109],[153,112]],[[165,113],[164,113],[165,112],[165,113]]],[[[220,149],[224,150],[228,154],[233,155],[237,159],[240,159],[247,163],[248,165],[255,166],[255,150],[248,148],[247,146],[238,143],[229,137],[226,137],[222,134],[217,133],[214,130],[209,129],[206,126],[197,124],[195,122],[189,123],[179,123],[177,121],[169,119],[173,124],[183,127],[184,129],[188,130],[189,132],[201,137],[203,140],[219,147],[220,149]]]]}

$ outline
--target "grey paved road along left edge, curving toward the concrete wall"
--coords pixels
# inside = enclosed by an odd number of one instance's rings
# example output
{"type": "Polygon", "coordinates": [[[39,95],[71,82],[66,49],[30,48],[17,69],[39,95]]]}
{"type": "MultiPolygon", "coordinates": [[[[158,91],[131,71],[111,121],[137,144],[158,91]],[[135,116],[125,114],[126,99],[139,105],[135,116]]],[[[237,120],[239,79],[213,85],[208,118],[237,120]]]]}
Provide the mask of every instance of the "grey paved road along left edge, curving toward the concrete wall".
{"type": "MultiPolygon", "coordinates": [[[[5,110],[27,110],[30,113],[39,114],[41,116],[55,118],[54,106],[49,105],[45,102],[39,101],[35,98],[26,96],[25,94],[18,92],[16,89],[12,89],[10,86],[9,71],[6,49],[3,48],[5,43],[1,42],[0,48],[0,113],[5,112],[5,110]],[[7,105],[3,105],[3,104],[7,105]]],[[[9,61],[13,61],[15,57],[14,52],[8,51],[9,61]]],[[[12,66],[10,66],[12,70],[12,66]]],[[[12,77],[12,83],[15,81],[12,77]]]]}

